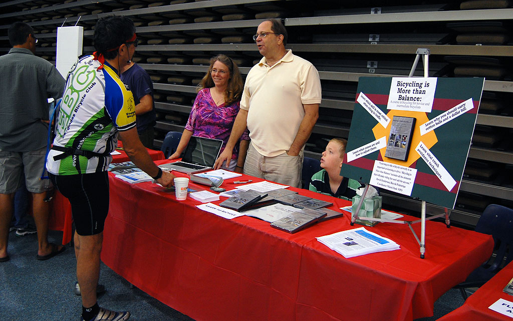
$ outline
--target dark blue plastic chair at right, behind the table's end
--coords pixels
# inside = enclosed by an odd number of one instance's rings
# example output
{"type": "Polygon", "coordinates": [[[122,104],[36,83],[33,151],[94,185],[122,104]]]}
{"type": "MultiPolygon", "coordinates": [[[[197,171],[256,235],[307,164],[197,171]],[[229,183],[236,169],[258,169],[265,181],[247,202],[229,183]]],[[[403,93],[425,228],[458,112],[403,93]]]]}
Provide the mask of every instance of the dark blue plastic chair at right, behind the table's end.
{"type": "Polygon", "coordinates": [[[466,288],[482,286],[513,259],[513,209],[497,204],[488,205],[476,225],[476,231],[494,237],[495,255],[454,287],[460,289],[464,299],[467,299],[466,288]]]}

